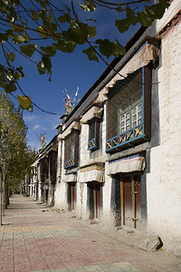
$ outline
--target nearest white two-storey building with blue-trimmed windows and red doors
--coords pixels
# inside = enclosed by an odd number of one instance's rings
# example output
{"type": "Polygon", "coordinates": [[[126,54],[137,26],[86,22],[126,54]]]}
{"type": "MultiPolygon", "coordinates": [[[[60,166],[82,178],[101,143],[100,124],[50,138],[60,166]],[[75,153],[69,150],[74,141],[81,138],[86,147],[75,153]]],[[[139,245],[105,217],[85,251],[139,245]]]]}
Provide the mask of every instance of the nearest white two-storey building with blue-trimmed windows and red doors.
{"type": "MultiPolygon", "coordinates": [[[[141,27],[62,116],[53,199],[103,228],[156,234],[166,249],[181,242],[180,9],[174,0],[162,19],[141,27]]],[[[49,199],[40,180],[39,198],[49,199]]]]}

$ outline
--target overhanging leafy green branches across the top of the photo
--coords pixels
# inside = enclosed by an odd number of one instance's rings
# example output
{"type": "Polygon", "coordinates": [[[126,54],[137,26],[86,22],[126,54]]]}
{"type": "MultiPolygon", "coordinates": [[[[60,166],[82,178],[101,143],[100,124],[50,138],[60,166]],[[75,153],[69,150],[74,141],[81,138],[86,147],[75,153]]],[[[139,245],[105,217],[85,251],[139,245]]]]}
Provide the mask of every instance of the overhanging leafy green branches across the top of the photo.
{"type": "Polygon", "coordinates": [[[0,61],[0,86],[5,92],[19,88],[22,92],[17,96],[20,106],[33,111],[31,98],[18,83],[24,77],[23,67],[12,64],[16,55],[30,60],[36,52],[39,60],[31,61],[40,74],[47,73],[51,80],[51,58],[57,51],[71,53],[76,45],[87,44],[82,52],[90,61],[97,62],[125,53],[118,39],[111,42],[108,37],[100,39],[97,35],[100,20],[94,19],[96,11],[107,9],[110,14],[114,13],[114,27],[122,34],[131,24],[149,26],[154,19],[162,17],[167,6],[166,0],[0,0],[0,42],[4,55],[0,61]]]}

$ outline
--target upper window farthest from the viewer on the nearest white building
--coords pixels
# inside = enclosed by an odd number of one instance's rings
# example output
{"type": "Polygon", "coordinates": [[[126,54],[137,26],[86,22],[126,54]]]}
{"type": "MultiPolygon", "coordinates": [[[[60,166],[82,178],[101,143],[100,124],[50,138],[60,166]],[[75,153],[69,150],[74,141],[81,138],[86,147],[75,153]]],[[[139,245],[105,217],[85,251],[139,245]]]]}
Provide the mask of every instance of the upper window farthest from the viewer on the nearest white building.
{"type": "Polygon", "coordinates": [[[72,130],[64,142],[64,168],[70,169],[78,165],[79,131],[72,130]]]}

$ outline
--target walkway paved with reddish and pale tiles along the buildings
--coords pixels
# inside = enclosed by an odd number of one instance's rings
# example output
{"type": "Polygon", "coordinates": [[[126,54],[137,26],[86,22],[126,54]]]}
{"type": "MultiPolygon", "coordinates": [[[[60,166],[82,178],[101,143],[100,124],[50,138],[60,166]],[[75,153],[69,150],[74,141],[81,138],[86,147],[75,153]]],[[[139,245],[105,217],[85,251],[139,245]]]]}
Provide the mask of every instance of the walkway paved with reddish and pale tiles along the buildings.
{"type": "Polygon", "coordinates": [[[0,271],[181,271],[165,252],[130,248],[68,213],[21,195],[10,199],[0,226],[0,271]]]}

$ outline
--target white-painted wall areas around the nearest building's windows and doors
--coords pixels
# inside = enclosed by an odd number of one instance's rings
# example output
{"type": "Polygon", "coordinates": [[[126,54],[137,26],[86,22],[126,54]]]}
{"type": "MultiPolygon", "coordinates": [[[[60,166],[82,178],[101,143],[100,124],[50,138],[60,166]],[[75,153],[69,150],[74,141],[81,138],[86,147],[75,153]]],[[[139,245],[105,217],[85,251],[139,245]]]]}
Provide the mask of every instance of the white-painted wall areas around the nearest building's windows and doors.
{"type": "MultiPolygon", "coordinates": [[[[150,33],[156,35],[167,25],[180,8],[180,1],[174,0],[164,17],[157,21],[155,29],[150,33]]],[[[169,242],[181,242],[181,24],[176,24],[163,35],[161,43],[161,65],[153,71],[152,88],[152,136],[148,151],[150,165],[146,169],[147,187],[147,231],[162,238],[164,246],[169,248],[169,242]],[[148,170],[149,169],[149,170],[148,170]]],[[[81,125],[79,166],[105,162],[105,172],[108,165],[106,146],[106,105],[104,117],[100,124],[100,150],[90,152],[88,147],[88,124],[81,125]]],[[[60,160],[59,141],[59,160],[60,160]]],[[[62,158],[64,148],[62,147],[62,158]]],[[[149,163],[147,161],[147,163],[149,163]]],[[[59,172],[59,171],[58,171],[59,172]]],[[[62,180],[65,170],[62,159],[62,180]]],[[[79,171],[78,173],[79,174],[79,171]]],[[[114,217],[110,210],[111,177],[105,175],[102,188],[103,209],[100,219],[104,228],[113,228],[114,217]]],[[[58,182],[55,189],[55,206],[66,210],[66,183],[58,182]]],[[[89,219],[87,210],[87,184],[77,182],[75,213],[81,219],[89,219]]]]}

